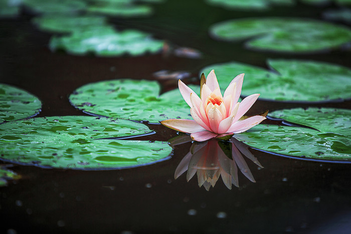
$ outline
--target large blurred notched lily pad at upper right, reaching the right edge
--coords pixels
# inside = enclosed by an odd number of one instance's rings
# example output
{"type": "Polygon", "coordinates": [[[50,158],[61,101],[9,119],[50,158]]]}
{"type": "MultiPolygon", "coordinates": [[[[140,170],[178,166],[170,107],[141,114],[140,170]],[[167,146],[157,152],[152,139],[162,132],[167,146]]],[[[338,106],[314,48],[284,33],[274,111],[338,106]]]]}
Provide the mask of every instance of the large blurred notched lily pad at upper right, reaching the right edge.
{"type": "Polygon", "coordinates": [[[334,49],[351,41],[346,27],[298,18],[230,20],[213,25],[210,34],[224,41],[249,40],[249,49],[289,53],[334,49]]]}

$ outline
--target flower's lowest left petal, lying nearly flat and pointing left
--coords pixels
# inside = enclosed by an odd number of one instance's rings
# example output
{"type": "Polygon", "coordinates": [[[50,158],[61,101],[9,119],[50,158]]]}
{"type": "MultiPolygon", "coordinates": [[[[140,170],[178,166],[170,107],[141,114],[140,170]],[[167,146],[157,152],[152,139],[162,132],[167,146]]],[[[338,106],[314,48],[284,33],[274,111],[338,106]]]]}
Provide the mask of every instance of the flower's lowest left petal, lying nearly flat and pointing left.
{"type": "Polygon", "coordinates": [[[162,125],[186,133],[205,131],[197,122],[191,119],[167,119],[160,122],[162,125]]]}

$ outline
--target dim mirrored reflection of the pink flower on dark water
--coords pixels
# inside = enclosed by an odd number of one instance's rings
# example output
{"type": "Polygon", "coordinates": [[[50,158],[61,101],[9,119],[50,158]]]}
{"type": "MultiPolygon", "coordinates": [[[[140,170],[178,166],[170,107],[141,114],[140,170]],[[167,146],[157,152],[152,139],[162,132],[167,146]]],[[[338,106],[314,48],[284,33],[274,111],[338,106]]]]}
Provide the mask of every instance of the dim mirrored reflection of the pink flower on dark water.
{"type": "MultiPolygon", "coordinates": [[[[191,141],[190,136],[180,136],[172,139],[172,145],[178,145],[191,141]]],[[[224,184],[232,189],[232,184],[239,187],[238,168],[252,182],[256,182],[243,155],[263,168],[257,158],[249,151],[249,146],[238,141],[234,137],[230,141],[217,139],[206,142],[194,142],[189,153],[175,169],[174,178],[177,179],[187,172],[187,181],[195,174],[198,175],[199,186],[204,185],[209,190],[215,186],[219,177],[224,184]]]]}

